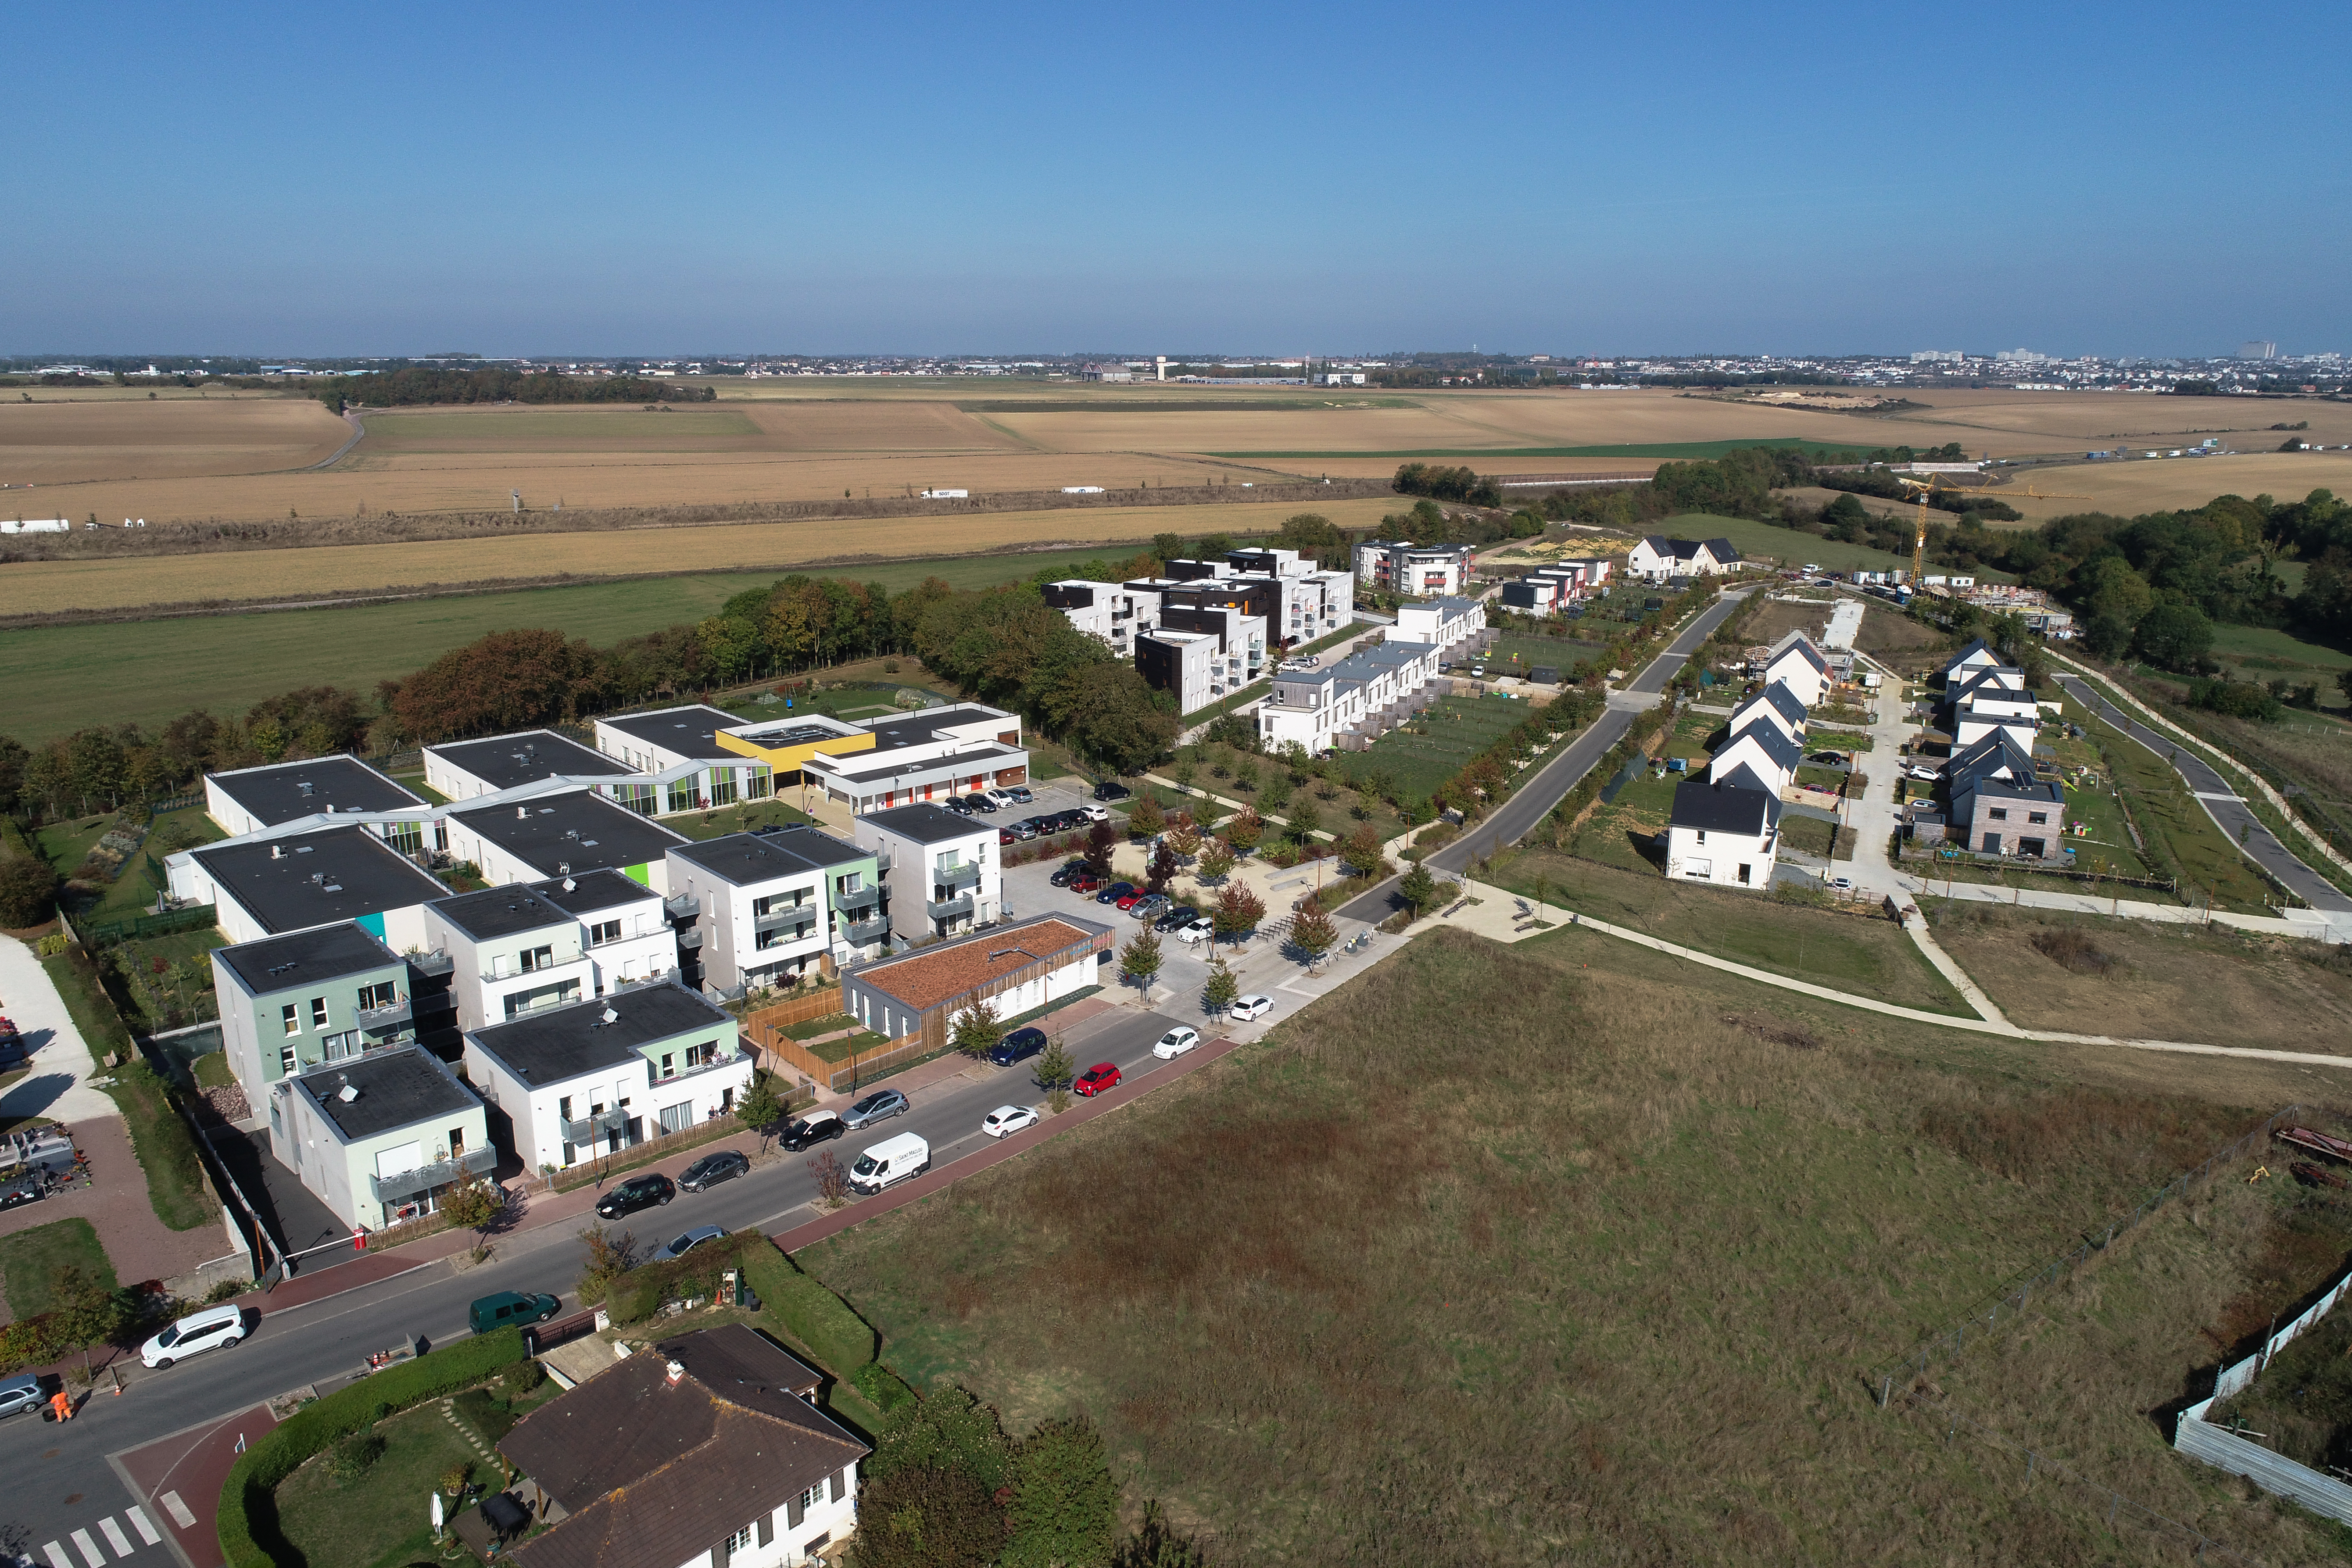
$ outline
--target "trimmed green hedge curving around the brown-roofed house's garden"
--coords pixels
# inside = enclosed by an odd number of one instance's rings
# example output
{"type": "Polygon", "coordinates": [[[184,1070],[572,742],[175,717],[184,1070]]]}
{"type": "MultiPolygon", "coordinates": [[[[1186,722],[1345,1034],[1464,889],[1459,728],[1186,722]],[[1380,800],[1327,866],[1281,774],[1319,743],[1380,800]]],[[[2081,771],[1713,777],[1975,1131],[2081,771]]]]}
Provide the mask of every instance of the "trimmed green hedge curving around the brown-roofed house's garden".
{"type": "Polygon", "coordinates": [[[301,1561],[278,1533],[275,1490],[313,1453],[395,1410],[470,1389],[522,1359],[520,1328],[473,1335],[315,1399],[270,1427],[238,1455],[228,1481],[221,1483],[219,1530],[228,1568],[275,1568],[275,1563],[301,1561]]]}

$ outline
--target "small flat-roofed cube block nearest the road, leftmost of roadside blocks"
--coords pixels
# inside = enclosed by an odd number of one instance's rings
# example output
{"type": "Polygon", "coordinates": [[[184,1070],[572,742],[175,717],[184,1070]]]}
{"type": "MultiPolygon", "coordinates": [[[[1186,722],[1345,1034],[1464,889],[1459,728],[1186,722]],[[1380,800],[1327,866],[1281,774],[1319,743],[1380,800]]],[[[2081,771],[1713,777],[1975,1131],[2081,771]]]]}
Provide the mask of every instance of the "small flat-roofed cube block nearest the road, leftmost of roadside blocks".
{"type": "Polygon", "coordinates": [[[270,1157],[353,1229],[421,1220],[499,1164],[482,1100],[423,1046],[280,1079],[268,1107],[270,1157]]]}

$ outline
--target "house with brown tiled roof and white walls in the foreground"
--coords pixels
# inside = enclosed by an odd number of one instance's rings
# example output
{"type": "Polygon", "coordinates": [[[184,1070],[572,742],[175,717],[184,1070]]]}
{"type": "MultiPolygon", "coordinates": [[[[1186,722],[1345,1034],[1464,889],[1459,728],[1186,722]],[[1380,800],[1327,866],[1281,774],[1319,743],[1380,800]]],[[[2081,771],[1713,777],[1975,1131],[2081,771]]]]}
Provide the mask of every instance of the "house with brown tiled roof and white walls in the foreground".
{"type": "MultiPolygon", "coordinates": [[[[499,1443],[543,1495],[524,1568],[788,1568],[856,1530],[866,1443],[743,1324],[640,1349],[499,1443]]],[[[529,1488],[524,1488],[529,1490],[529,1488]]]]}

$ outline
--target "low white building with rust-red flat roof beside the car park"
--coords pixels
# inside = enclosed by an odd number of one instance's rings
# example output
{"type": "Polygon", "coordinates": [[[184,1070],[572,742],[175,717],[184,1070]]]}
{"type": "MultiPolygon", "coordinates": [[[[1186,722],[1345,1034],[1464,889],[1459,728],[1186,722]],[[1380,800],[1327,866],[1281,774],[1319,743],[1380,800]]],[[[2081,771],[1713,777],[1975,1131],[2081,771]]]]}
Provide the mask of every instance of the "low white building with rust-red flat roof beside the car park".
{"type": "Polygon", "coordinates": [[[931,947],[842,971],[842,1011],[877,1034],[948,1044],[948,1020],[971,1001],[1016,1018],[1075,990],[1096,971],[1117,931],[1082,914],[1037,914],[931,947]]]}

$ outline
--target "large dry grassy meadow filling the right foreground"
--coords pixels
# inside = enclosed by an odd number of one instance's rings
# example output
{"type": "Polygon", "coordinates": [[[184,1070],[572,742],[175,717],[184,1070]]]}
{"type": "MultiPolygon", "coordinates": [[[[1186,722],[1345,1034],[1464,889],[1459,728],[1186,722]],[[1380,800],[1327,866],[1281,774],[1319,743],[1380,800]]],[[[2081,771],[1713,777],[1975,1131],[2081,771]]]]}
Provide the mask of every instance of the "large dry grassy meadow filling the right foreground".
{"type": "MultiPolygon", "coordinates": [[[[2307,1084],[1879,1018],[1573,926],[1432,931],[797,1260],[917,1387],[1016,1429],[1089,1415],[1129,1516],[1160,1497],[1230,1561],[2159,1561],[1860,1371],[2307,1084]]],[[[2270,1246],[2296,1199],[2216,1182],[1938,1382],[2246,1556],[2331,1561],[2328,1526],[2147,1418],[2340,1267],[2340,1222],[2331,1255],[2270,1246]]]]}

